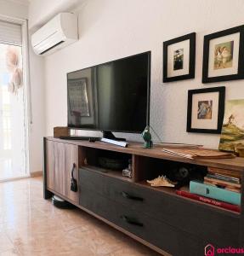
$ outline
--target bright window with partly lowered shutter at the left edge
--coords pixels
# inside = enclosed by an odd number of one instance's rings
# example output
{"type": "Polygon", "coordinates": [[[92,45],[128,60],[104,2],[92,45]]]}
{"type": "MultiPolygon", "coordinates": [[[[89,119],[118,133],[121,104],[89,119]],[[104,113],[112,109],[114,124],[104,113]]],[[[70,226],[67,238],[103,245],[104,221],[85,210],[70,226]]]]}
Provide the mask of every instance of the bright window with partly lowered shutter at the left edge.
{"type": "Polygon", "coordinates": [[[0,20],[0,180],[26,176],[22,26],[0,20]]]}

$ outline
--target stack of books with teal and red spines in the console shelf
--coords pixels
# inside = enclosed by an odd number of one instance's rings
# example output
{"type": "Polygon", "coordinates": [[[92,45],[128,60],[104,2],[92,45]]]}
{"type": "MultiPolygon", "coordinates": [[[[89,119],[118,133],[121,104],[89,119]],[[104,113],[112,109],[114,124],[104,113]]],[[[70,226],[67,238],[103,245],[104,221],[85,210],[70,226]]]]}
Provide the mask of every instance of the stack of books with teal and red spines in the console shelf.
{"type": "Polygon", "coordinates": [[[190,192],[177,190],[176,193],[196,201],[203,201],[234,212],[241,212],[240,177],[208,172],[203,183],[190,181],[190,192]]]}

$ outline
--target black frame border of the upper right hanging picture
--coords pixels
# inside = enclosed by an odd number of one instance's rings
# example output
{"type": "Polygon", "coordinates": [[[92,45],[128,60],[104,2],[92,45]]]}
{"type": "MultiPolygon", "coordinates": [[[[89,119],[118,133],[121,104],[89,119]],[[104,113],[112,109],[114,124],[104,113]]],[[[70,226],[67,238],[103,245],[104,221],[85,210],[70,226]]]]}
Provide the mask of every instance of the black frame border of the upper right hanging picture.
{"type": "Polygon", "coordinates": [[[236,79],[244,79],[244,26],[235,26],[220,32],[214,32],[212,34],[206,35],[204,37],[204,45],[203,45],[203,64],[202,64],[202,83],[214,83],[214,82],[223,82],[230,81],[236,79]],[[229,74],[217,77],[208,77],[208,62],[209,62],[209,43],[211,40],[215,38],[222,38],[224,36],[228,36],[234,34],[236,32],[240,32],[240,44],[239,44],[239,59],[238,59],[238,73],[237,74],[229,74]]]}

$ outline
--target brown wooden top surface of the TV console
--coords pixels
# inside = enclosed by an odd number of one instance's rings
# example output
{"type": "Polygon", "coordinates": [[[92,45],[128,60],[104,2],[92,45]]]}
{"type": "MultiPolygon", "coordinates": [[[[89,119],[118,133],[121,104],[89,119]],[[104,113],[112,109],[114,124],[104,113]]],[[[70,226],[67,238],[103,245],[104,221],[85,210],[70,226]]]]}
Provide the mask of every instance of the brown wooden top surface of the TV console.
{"type": "Polygon", "coordinates": [[[60,143],[70,143],[76,144],[82,147],[88,148],[99,148],[105,150],[112,150],[116,152],[122,152],[126,154],[135,154],[135,155],[142,155],[151,158],[158,158],[164,160],[173,160],[178,162],[190,163],[199,166],[209,166],[209,167],[218,167],[228,170],[233,170],[237,172],[244,172],[244,158],[235,157],[234,159],[209,159],[209,160],[190,160],[178,156],[174,156],[172,154],[167,154],[162,152],[162,146],[156,145],[151,149],[143,148],[143,143],[129,143],[128,148],[118,147],[116,145],[111,145],[109,143],[102,143],[102,142],[95,142],[89,143],[88,141],[79,141],[79,140],[63,140],[54,137],[47,137],[48,140],[60,142],[60,143]]]}

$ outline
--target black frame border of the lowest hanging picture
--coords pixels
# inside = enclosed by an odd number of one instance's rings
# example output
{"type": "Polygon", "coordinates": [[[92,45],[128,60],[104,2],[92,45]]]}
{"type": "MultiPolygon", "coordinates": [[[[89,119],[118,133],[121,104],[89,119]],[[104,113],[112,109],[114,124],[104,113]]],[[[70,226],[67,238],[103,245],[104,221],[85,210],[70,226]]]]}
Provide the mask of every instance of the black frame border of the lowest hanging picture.
{"type": "Polygon", "coordinates": [[[198,133],[213,133],[220,134],[224,119],[224,101],[225,101],[225,87],[212,87],[205,89],[188,90],[188,106],[187,106],[187,132],[198,132],[198,133]],[[218,120],[217,129],[196,129],[192,128],[192,96],[198,93],[218,92],[218,120]]]}

